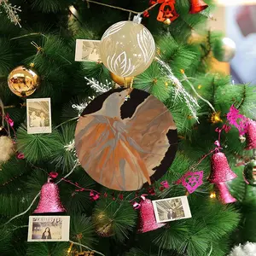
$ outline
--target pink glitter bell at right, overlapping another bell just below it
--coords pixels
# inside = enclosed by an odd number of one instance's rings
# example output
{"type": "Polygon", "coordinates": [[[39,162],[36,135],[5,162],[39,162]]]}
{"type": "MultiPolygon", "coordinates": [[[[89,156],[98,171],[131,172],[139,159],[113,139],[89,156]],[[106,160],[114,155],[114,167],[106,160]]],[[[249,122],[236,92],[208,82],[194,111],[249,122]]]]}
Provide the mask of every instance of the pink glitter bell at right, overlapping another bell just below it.
{"type": "Polygon", "coordinates": [[[224,183],[236,178],[236,173],[232,172],[228,160],[222,152],[212,154],[211,166],[212,172],[208,178],[210,183],[224,183]]]}

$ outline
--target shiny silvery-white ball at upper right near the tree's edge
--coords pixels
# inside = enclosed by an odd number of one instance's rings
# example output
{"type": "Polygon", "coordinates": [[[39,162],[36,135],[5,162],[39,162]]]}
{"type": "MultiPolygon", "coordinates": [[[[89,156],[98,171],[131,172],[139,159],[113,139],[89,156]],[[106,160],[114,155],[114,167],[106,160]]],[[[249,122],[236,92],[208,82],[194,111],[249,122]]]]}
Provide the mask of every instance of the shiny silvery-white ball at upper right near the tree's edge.
{"type": "Polygon", "coordinates": [[[230,38],[222,38],[221,54],[214,55],[218,61],[229,62],[236,55],[236,43],[230,38]]]}

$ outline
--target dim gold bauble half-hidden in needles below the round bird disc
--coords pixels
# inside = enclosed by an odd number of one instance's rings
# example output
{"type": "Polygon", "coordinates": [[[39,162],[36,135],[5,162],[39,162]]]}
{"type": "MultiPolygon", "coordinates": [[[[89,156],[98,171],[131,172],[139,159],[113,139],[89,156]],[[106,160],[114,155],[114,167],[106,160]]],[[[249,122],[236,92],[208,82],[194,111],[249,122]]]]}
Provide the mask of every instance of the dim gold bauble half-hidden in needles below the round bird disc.
{"type": "Polygon", "coordinates": [[[108,218],[105,212],[97,212],[93,220],[96,226],[96,233],[99,236],[113,236],[113,220],[108,218]]]}

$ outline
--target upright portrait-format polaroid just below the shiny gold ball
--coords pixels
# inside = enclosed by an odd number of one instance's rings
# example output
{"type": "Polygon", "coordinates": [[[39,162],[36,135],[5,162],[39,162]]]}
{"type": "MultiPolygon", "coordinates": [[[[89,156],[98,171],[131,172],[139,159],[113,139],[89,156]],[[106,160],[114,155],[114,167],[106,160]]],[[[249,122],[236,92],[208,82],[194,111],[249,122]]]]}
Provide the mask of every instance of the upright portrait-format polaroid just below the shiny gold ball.
{"type": "Polygon", "coordinates": [[[27,133],[51,133],[50,98],[26,99],[27,133]]]}

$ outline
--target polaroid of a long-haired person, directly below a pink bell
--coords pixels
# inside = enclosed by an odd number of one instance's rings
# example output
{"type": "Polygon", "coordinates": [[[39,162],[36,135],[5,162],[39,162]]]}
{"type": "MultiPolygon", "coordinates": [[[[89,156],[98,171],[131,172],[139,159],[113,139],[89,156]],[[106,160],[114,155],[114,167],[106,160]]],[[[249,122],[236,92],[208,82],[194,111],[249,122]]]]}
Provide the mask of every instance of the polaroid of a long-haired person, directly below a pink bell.
{"type": "Polygon", "coordinates": [[[69,241],[70,216],[29,216],[27,241],[69,241]]]}

